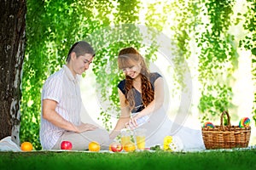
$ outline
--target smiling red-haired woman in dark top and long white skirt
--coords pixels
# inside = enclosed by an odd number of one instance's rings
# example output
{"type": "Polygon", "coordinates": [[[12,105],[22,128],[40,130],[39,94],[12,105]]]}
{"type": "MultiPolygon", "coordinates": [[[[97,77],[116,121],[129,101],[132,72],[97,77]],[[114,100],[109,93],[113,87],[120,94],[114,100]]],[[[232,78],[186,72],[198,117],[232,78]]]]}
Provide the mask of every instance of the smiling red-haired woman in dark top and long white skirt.
{"type": "Polygon", "coordinates": [[[118,57],[119,69],[125,73],[125,80],[119,82],[118,92],[121,115],[110,139],[114,139],[121,129],[137,127],[147,129],[146,147],[162,144],[167,135],[182,140],[183,150],[205,149],[200,131],[178,125],[171,132],[171,122],[163,109],[164,82],[159,73],[150,73],[143,56],[135,48],[123,48],[118,57]]]}

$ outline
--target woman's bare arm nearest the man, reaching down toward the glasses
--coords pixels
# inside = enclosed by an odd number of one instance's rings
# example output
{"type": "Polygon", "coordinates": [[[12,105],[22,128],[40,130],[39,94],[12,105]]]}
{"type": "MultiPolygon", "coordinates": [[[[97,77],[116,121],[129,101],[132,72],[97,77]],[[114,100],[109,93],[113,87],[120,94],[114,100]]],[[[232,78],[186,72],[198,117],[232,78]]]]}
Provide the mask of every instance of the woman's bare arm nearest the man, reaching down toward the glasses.
{"type": "Polygon", "coordinates": [[[121,115],[119,116],[119,120],[116,123],[112,133],[110,133],[109,138],[114,139],[117,135],[119,135],[120,130],[125,128],[125,123],[129,122],[131,118],[131,112],[129,106],[125,104],[125,94],[123,94],[119,89],[119,100],[120,100],[120,108],[121,108],[121,115]]]}

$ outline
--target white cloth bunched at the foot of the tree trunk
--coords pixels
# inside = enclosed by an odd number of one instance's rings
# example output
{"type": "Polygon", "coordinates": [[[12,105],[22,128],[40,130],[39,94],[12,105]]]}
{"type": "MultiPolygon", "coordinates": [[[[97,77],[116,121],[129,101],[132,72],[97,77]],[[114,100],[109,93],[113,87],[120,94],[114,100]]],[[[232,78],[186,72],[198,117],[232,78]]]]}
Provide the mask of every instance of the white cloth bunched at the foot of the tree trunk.
{"type": "Polygon", "coordinates": [[[0,151],[21,151],[20,146],[15,144],[11,136],[8,136],[2,140],[0,140],[0,151]]]}

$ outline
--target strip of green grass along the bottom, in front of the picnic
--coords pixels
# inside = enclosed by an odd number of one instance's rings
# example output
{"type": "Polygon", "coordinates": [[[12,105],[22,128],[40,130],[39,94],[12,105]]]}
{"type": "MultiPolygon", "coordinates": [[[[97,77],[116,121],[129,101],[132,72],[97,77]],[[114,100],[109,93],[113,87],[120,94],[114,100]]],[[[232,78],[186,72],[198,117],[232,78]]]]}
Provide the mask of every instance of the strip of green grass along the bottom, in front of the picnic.
{"type": "Polygon", "coordinates": [[[256,169],[256,150],[91,153],[0,152],[0,169],[256,169]]]}

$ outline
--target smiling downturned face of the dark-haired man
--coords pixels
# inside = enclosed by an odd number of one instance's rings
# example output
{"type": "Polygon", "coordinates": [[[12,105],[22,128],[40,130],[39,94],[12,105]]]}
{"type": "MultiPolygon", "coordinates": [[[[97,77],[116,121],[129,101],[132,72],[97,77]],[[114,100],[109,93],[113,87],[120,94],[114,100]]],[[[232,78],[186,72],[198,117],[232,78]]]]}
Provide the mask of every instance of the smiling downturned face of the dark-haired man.
{"type": "Polygon", "coordinates": [[[79,57],[74,55],[73,60],[73,72],[75,74],[82,75],[84,71],[89,69],[90,63],[92,62],[92,54],[84,54],[79,57]]]}

